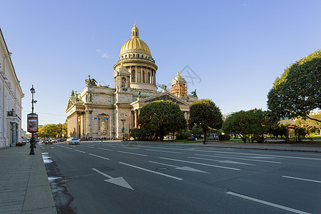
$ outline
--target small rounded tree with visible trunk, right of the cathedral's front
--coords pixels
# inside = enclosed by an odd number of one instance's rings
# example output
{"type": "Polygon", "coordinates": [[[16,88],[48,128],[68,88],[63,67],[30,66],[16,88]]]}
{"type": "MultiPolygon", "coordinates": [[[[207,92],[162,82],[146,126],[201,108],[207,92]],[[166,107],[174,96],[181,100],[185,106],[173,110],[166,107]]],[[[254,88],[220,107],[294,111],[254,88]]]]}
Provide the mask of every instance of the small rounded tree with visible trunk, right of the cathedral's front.
{"type": "Polygon", "coordinates": [[[206,142],[206,131],[209,128],[220,129],[223,124],[222,113],[220,108],[209,99],[200,99],[190,106],[190,119],[188,126],[200,127],[203,129],[203,143],[206,142]]]}

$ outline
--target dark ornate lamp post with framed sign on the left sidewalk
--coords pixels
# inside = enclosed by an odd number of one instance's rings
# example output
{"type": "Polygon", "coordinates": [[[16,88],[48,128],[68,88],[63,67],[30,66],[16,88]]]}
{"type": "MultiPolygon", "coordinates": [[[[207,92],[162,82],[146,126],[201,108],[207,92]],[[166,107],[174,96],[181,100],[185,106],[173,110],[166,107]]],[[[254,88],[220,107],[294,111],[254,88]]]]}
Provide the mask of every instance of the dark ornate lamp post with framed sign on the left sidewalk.
{"type": "Polygon", "coordinates": [[[34,133],[36,133],[38,131],[38,115],[36,113],[34,113],[34,103],[36,103],[37,101],[34,100],[34,93],[36,93],[36,90],[34,90],[34,85],[32,85],[32,88],[30,89],[30,92],[32,94],[32,100],[31,100],[31,113],[29,113],[27,115],[27,119],[28,119],[28,132],[31,133],[31,150],[29,155],[34,155],[34,133]]]}

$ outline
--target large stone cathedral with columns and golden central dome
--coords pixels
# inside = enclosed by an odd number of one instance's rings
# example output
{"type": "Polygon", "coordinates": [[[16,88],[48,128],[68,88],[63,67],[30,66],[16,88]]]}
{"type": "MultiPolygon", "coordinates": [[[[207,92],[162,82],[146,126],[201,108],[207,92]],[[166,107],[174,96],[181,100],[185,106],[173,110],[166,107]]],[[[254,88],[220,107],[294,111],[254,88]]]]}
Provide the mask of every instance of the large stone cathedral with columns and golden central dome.
{"type": "Polygon", "coordinates": [[[68,137],[121,139],[123,131],[128,136],[130,129],[138,128],[140,109],[158,100],[178,103],[188,119],[196,93],[188,95],[186,81],[179,72],[170,82],[170,92],[165,86],[163,91],[157,91],[157,68],[135,24],[131,39],[123,44],[113,66],[115,88],[101,86],[88,76],[81,93],[71,92],[66,107],[68,137]]]}

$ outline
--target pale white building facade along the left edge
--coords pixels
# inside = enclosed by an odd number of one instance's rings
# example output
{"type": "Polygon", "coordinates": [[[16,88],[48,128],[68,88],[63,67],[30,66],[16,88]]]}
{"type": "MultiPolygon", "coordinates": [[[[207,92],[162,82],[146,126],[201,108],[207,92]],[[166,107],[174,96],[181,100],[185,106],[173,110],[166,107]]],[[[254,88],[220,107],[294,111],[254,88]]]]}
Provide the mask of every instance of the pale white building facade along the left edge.
{"type": "Polygon", "coordinates": [[[10,56],[0,29],[0,148],[21,142],[21,98],[24,93],[10,56]]]}

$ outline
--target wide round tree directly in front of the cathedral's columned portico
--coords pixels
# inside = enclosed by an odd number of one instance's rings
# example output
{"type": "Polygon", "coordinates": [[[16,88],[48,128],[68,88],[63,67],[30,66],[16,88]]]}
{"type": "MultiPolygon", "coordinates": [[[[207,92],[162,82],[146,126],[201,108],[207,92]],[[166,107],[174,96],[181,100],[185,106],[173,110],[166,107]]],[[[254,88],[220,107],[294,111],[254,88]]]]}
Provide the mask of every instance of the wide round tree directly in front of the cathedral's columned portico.
{"type": "Polygon", "coordinates": [[[186,120],[180,106],[171,101],[154,101],[141,108],[138,124],[146,129],[151,138],[163,141],[168,133],[175,133],[186,128],[186,120]]]}

